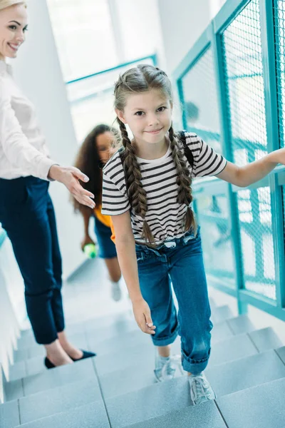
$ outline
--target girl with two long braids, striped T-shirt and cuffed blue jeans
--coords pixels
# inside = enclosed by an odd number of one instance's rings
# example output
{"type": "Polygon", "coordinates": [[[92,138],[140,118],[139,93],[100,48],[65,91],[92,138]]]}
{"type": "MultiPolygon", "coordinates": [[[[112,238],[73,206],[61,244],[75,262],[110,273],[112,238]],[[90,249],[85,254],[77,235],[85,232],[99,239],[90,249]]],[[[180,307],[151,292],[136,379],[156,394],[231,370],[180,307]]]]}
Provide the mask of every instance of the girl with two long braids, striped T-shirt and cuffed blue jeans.
{"type": "Polygon", "coordinates": [[[179,138],[172,128],[172,106],[170,80],[159,68],[140,65],[118,79],[115,112],[123,147],[103,169],[102,213],[113,221],[135,320],[157,347],[155,376],[160,381],[174,376],[170,345],[179,334],[182,367],[189,374],[192,401],[199,404],[215,394],[203,373],[212,322],[199,227],[191,209],[192,178],[217,175],[244,187],[285,163],[285,150],[238,167],[195,133],[184,131],[179,138]]]}

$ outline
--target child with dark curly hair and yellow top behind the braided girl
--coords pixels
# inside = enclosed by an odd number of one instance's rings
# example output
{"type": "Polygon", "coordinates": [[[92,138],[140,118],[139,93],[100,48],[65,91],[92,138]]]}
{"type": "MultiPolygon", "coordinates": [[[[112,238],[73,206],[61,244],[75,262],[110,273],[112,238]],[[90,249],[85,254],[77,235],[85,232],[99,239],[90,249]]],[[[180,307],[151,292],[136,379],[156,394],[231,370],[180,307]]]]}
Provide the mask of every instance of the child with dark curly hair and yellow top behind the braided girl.
{"type": "Polygon", "coordinates": [[[113,154],[115,136],[118,131],[110,128],[108,125],[95,126],[86,139],[83,141],[81,148],[78,151],[76,158],[76,168],[80,168],[88,175],[88,183],[84,183],[83,187],[95,196],[95,208],[92,210],[81,205],[73,198],[73,206],[76,211],[79,211],[84,220],[84,238],[81,243],[81,248],[87,244],[94,244],[89,235],[90,218],[94,217],[95,235],[99,244],[99,257],[105,260],[105,265],[108,269],[111,293],[113,300],[120,300],[122,293],[120,290],[120,266],[118,263],[115,244],[111,240],[111,220],[110,215],[101,214],[102,204],[102,168],[113,154]]]}

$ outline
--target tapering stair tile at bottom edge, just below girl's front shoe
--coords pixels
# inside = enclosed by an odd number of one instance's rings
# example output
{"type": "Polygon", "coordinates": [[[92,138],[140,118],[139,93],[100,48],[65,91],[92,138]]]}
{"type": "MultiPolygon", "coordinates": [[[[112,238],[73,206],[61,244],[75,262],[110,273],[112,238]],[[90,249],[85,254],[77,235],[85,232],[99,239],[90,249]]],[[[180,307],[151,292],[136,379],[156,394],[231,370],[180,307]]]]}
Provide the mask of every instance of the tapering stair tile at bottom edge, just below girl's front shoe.
{"type": "Polygon", "coordinates": [[[125,428],[227,428],[214,402],[177,410],[125,428]]]}

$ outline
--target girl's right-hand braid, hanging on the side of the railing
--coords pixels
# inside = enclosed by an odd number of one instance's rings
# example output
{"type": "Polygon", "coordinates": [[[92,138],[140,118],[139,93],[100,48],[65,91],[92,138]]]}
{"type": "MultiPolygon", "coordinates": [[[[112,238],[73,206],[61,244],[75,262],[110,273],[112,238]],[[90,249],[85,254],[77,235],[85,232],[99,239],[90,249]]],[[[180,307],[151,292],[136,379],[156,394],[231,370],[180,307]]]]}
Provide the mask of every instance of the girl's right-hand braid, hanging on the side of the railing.
{"type": "Polygon", "coordinates": [[[172,151],[172,158],[175,163],[177,170],[177,185],[178,185],[178,195],[177,203],[187,205],[187,211],[185,214],[185,230],[190,230],[192,228],[196,234],[197,225],[195,222],[195,217],[192,209],[190,208],[190,203],[192,203],[192,178],[190,178],[190,172],[187,168],[186,162],[184,160],[184,153],[180,150],[179,139],[175,135],[172,126],[169,130],[170,137],[170,148],[172,151]]]}

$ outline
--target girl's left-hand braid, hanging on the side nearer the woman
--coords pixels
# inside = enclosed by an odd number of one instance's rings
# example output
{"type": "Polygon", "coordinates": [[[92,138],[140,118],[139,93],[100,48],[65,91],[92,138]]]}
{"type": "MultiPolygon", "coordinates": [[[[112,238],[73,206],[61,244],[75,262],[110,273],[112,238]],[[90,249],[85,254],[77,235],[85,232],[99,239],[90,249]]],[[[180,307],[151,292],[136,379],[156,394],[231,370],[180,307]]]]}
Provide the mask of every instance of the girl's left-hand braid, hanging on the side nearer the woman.
{"type": "Polygon", "coordinates": [[[125,124],[117,118],[120,126],[120,133],[122,135],[122,143],[125,151],[123,152],[123,168],[125,170],[125,180],[127,183],[127,193],[130,200],[134,213],[139,215],[143,219],[142,225],[142,238],[148,240],[150,243],[154,243],[150,226],[145,220],[147,213],[147,194],[145,189],[142,187],[142,173],[140,171],[140,165],[135,156],[135,147],[130,142],[128,131],[125,128],[125,124]]]}

